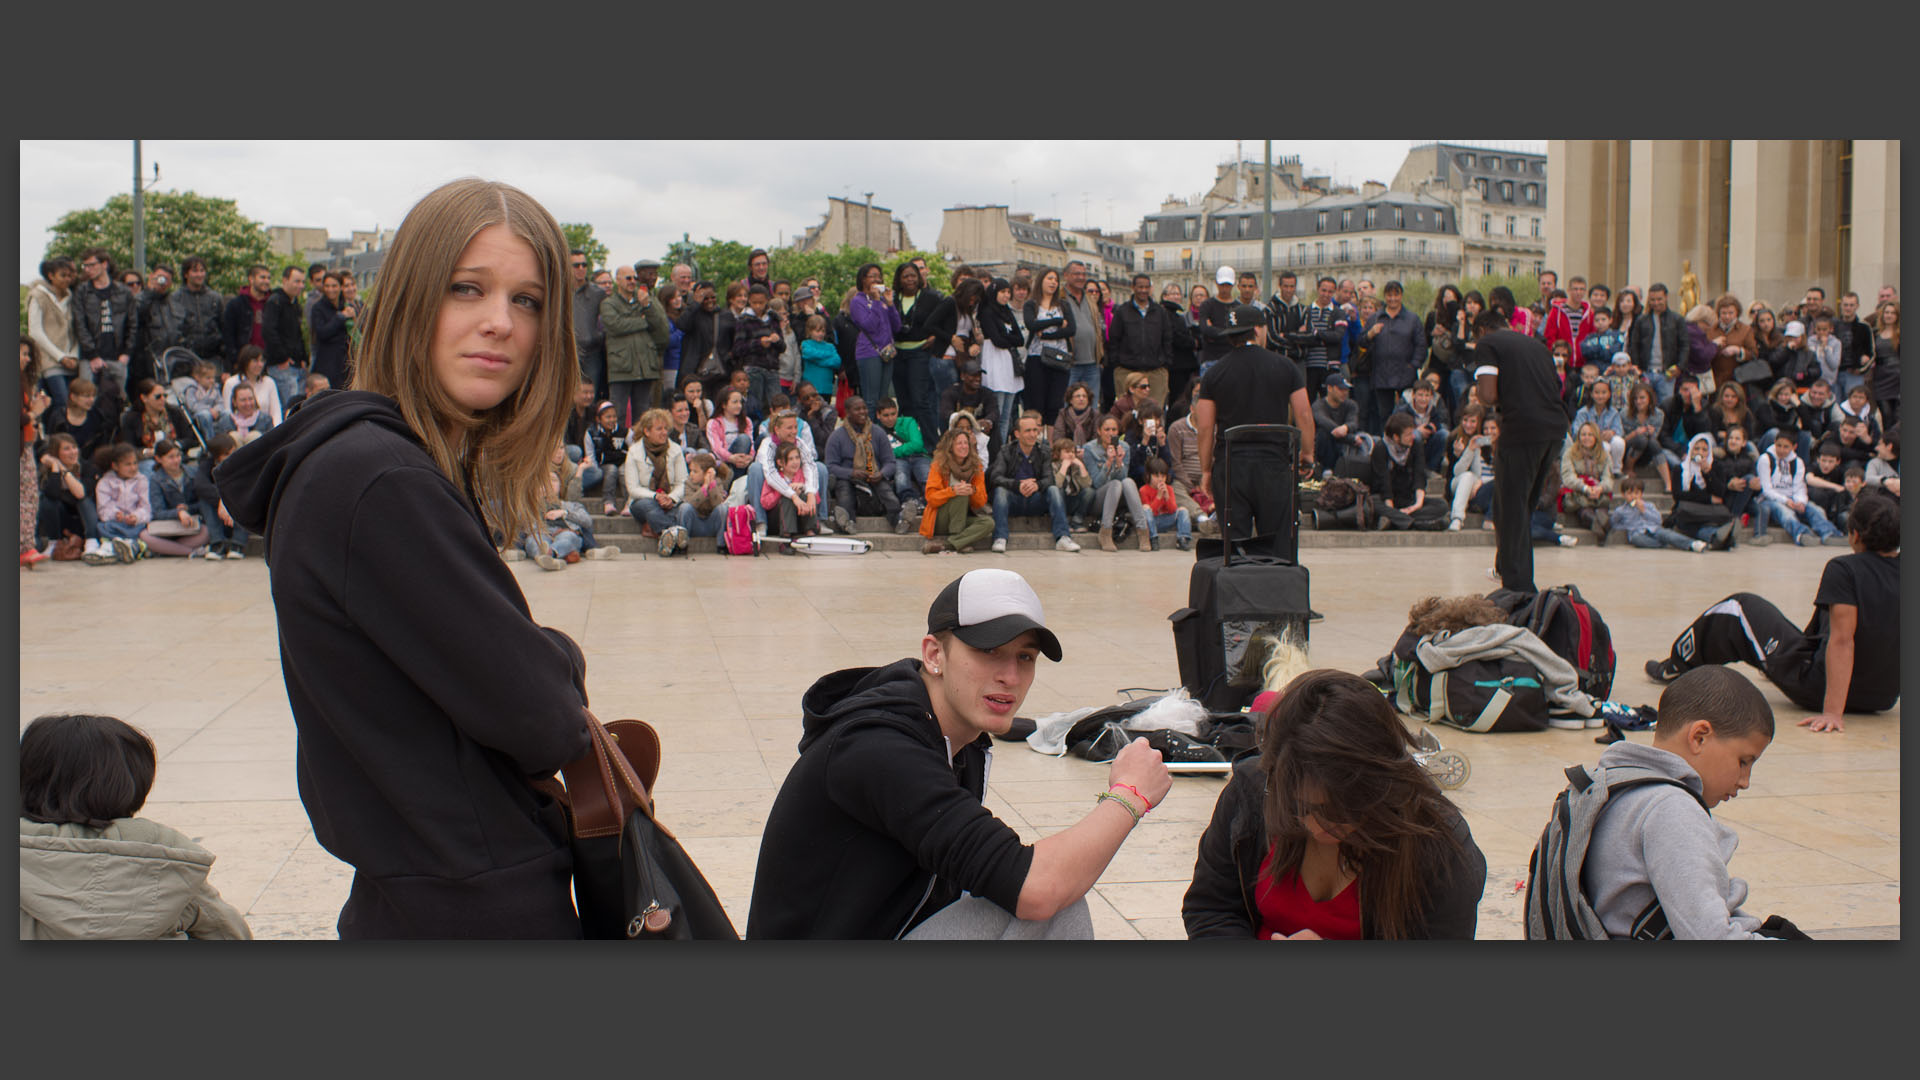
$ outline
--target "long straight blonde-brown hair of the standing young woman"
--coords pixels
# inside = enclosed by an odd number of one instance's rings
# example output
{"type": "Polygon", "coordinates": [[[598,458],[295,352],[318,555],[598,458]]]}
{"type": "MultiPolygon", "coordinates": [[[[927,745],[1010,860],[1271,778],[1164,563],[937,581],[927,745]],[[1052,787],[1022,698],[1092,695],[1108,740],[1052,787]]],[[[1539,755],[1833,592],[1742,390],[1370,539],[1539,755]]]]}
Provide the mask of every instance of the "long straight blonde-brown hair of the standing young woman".
{"type": "Polygon", "coordinates": [[[549,452],[566,432],[580,379],[566,252],[559,223],[520,188],[476,177],[434,188],[394,234],[348,377],[353,390],[392,398],[440,471],[507,536],[541,519],[549,452]],[[526,379],[499,405],[472,415],[434,377],[430,357],[453,265],[495,225],[534,250],[545,300],[526,379]]]}

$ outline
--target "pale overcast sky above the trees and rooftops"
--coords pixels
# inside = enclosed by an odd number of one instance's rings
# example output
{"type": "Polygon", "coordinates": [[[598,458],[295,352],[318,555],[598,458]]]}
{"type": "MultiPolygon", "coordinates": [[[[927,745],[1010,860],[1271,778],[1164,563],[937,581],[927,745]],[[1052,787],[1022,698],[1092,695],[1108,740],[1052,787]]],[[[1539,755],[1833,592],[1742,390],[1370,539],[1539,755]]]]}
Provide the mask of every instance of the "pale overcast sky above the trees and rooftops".
{"type": "MultiPolygon", "coordinates": [[[[1488,140],[1450,140],[1488,144],[1488,140]]],[[[1546,140],[1498,140],[1544,152],[1546,140]]],[[[1244,140],[1260,160],[1261,142],[1244,140]]],[[[1388,183],[1407,140],[1275,140],[1308,173],[1388,183]]],[[[682,233],[774,246],[818,225],[829,196],[864,198],[939,240],[941,209],[1010,204],[1068,227],[1135,229],[1169,194],[1206,190],[1233,140],[1194,142],[142,142],[159,188],[232,198],[263,225],[392,229],[434,186],[505,181],[561,221],[588,221],[614,261],[659,258],[682,233]]],[[[132,186],[132,144],[19,144],[19,279],[46,254],[48,227],[132,186]]]]}

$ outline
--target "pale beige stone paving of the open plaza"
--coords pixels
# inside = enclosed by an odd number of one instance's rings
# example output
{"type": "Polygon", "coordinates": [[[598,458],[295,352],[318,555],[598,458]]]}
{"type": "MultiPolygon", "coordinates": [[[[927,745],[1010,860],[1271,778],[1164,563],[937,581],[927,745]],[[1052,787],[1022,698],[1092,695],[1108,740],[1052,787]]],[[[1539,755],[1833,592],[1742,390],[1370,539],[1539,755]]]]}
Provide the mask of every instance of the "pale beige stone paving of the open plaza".
{"type": "MultiPolygon", "coordinates": [[[[1638,705],[1659,698],[1642,663],[1665,655],[1707,603],[1755,588],[1803,621],[1836,553],[1789,544],[1724,555],[1580,546],[1536,557],[1540,584],[1571,580],[1601,607],[1619,650],[1615,698],[1638,705]]],[[[1311,550],[1306,561],[1313,605],[1327,613],[1311,630],[1313,661],[1356,673],[1392,646],[1413,598],[1492,588],[1490,548],[1311,550]]],[[[1185,605],[1192,563],[1173,550],[628,555],[563,573],[513,563],[513,573],[534,615],[586,650],[599,717],[641,717],[660,730],[660,819],[743,928],[760,828],[795,759],[801,692],[826,671],[910,655],[933,594],[979,565],[1027,575],[1066,650],[1066,663],[1041,663],[1023,715],[1104,705],[1119,688],[1179,680],[1167,613],[1185,605]]],[[[144,815],[215,851],[213,882],[255,936],[334,936],[351,871],[315,844],[296,794],[265,561],[42,563],[19,580],[21,724],[84,709],[144,728],[161,753],[144,815]]],[[[1822,938],[1897,938],[1899,713],[1811,734],[1793,726],[1803,711],[1741,671],[1780,721],[1753,788],[1716,811],[1741,836],[1732,869],[1753,886],[1747,907],[1822,938]]],[[[1473,761],[1452,798],[1488,861],[1480,936],[1519,938],[1526,855],[1565,782],[1561,769],[1594,761],[1597,732],[1436,734],[1473,761]]],[[[996,744],[989,807],[1037,840],[1079,821],[1104,776],[1104,765],[996,744]]],[[[1185,936],[1181,894],[1221,784],[1177,778],[1165,805],[1133,832],[1089,897],[1102,938],[1185,936]]]]}

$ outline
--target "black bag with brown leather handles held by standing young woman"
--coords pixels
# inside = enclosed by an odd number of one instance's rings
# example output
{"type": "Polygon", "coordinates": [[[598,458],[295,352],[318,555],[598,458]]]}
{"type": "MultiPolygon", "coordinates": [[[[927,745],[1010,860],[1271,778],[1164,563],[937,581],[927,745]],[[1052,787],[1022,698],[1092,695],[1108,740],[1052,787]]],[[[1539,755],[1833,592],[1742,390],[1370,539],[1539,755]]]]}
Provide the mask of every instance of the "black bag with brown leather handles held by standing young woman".
{"type": "Polygon", "coordinates": [[[561,769],[572,822],[574,901],[589,940],[737,942],[720,897],[680,840],[653,817],[660,736],[641,721],[601,724],[561,769]]]}

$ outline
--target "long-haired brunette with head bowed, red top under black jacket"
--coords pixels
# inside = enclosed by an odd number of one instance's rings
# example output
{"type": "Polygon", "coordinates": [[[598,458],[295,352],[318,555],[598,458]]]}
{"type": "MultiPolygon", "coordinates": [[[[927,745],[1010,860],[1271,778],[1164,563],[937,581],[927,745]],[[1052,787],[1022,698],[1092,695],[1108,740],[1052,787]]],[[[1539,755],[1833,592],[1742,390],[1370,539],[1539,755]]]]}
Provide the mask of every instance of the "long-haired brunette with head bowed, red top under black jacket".
{"type": "Polygon", "coordinates": [[[1486,857],[1386,698],[1342,671],[1281,692],[1200,836],[1188,938],[1473,938],[1486,857]]]}

